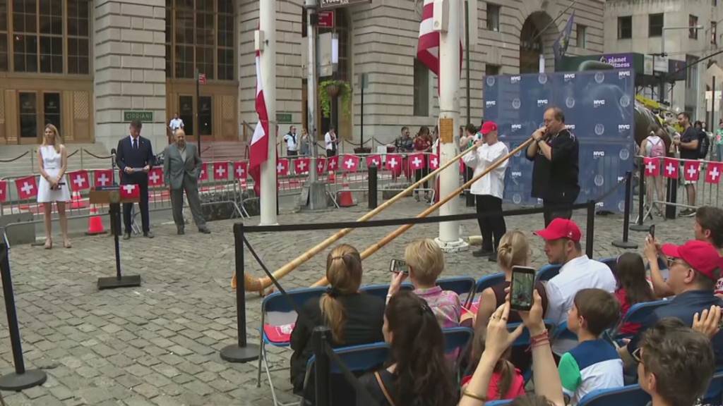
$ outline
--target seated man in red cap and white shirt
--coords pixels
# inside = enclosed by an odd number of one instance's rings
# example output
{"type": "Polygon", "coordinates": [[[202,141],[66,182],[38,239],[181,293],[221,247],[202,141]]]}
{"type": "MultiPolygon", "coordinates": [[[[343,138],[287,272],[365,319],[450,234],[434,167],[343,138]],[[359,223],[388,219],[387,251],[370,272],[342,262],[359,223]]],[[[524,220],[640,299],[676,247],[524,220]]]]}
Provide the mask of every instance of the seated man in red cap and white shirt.
{"type": "MultiPolygon", "coordinates": [[[[560,273],[545,285],[547,292],[547,316],[560,324],[568,319],[575,295],[581,289],[598,288],[614,292],[617,282],[612,271],[602,262],[589,259],[583,254],[580,238],[582,233],[573,220],[556,218],[544,230],[535,231],[544,239],[544,253],[550,264],[562,264],[560,273]]],[[[563,353],[562,347],[553,345],[555,353],[563,353]]]]}

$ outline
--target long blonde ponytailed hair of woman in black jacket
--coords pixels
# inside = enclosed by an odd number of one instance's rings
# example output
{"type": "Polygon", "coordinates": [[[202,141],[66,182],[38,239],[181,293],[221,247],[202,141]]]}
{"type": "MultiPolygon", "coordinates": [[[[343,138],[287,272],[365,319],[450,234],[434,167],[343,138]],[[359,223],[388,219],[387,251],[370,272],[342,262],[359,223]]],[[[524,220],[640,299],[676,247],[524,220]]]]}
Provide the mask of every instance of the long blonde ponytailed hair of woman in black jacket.
{"type": "Polygon", "coordinates": [[[326,278],[330,288],[321,296],[321,314],[335,342],[343,342],[346,322],[344,307],[339,295],[350,295],[359,291],[361,285],[361,256],[353,246],[342,244],[331,250],[326,257],[326,278]]]}

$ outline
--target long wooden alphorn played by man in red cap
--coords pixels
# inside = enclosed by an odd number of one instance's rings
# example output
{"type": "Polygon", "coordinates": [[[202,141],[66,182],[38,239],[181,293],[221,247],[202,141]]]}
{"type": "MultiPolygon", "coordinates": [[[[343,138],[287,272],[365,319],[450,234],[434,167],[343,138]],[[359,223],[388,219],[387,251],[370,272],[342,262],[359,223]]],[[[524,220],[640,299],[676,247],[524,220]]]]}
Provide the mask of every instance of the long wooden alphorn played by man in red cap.
{"type": "MultiPolygon", "coordinates": [[[[392,204],[397,202],[399,199],[401,199],[403,196],[408,194],[411,191],[414,191],[419,185],[422,183],[429,181],[433,176],[437,175],[437,173],[440,173],[442,170],[445,170],[453,163],[458,162],[461,157],[463,157],[467,152],[470,152],[474,149],[474,145],[472,147],[469,147],[467,150],[464,150],[457,156],[453,157],[452,159],[448,160],[447,163],[444,165],[441,165],[439,168],[435,169],[429,175],[424,176],[424,178],[419,179],[419,181],[416,181],[411,184],[407,189],[404,189],[401,191],[401,193],[393,196],[388,201],[382,203],[379,207],[377,207],[375,210],[372,210],[371,212],[367,212],[367,214],[359,217],[356,219],[356,221],[367,221],[370,218],[374,217],[375,215],[382,212],[382,210],[385,210],[387,207],[390,207],[392,204]]],[[[299,265],[303,264],[304,262],[307,262],[309,259],[312,259],[312,256],[315,256],[316,254],[319,254],[321,251],[326,249],[331,244],[335,243],[336,241],[339,241],[343,236],[346,236],[348,233],[351,233],[351,230],[354,230],[354,228],[342,228],[341,230],[338,230],[333,236],[330,236],[329,238],[325,239],[324,241],[318,243],[316,246],[312,247],[308,251],[304,252],[304,254],[301,254],[296,257],[291,262],[288,262],[283,267],[276,269],[273,272],[273,277],[275,279],[281,279],[282,277],[285,277],[289,272],[293,271],[299,265]]],[[[259,277],[254,278],[249,275],[244,275],[244,289],[247,290],[247,292],[261,292],[262,290],[265,290],[269,286],[271,286],[271,278],[270,277],[259,277]]],[[[236,289],[236,275],[231,278],[231,288],[236,289]]]]}

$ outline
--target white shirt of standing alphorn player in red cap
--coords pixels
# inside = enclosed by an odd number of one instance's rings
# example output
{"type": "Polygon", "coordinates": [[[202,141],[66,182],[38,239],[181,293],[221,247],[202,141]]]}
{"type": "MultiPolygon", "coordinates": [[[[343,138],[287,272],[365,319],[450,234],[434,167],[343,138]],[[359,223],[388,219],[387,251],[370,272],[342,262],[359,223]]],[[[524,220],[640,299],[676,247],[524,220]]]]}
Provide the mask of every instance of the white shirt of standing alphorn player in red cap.
{"type": "MultiPolygon", "coordinates": [[[[507,145],[504,142],[497,141],[492,145],[483,144],[476,151],[473,150],[464,155],[462,159],[465,165],[474,168],[474,176],[477,176],[508,153],[507,145]]],[[[497,199],[502,199],[502,194],[505,192],[507,163],[508,160],[505,160],[486,176],[482,176],[482,178],[472,183],[471,194],[489,194],[497,197],[497,199]]]]}

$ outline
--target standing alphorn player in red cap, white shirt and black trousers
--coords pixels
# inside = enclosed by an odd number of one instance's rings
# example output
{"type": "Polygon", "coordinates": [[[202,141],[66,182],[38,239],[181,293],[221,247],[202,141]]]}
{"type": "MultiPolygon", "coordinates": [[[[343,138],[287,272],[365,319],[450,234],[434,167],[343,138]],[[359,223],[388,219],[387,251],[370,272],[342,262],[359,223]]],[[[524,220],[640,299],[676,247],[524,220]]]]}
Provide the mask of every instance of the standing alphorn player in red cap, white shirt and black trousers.
{"type": "MultiPolygon", "coordinates": [[[[464,155],[464,164],[474,168],[474,177],[484,172],[493,163],[508,155],[509,151],[504,142],[497,140],[497,124],[495,121],[485,121],[482,124],[483,139],[475,142],[476,149],[464,155]]],[[[476,199],[477,213],[494,212],[493,216],[477,218],[479,230],[482,233],[482,249],[474,251],[474,256],[488,256],[490,261],[497,260],[497,246],[500,239],[507,232],[505,218],[502,217],[502,194],[505,191],[505,169],[508,161],[505,160],[486,176],[482,176],[472,183],[471,194],[476,199]],[[494,238],[494,241],[493,241],[494,238]]]]}

